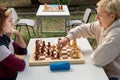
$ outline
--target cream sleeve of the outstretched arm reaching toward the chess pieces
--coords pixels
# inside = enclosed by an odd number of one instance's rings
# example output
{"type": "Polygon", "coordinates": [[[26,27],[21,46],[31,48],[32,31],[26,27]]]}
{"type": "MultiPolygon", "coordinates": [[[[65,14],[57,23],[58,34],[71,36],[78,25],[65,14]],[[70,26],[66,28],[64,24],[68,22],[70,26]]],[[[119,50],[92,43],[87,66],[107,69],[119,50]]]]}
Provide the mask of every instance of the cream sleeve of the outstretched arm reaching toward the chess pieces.
{"type": "Polygon", "coordinates": [[[68,37],[70,40],[73,38],[80,37],[91,37],[95,38],[97,34],[99,34],[100,28],[97,21],[88,24],[81,24],[80,26],[76,26],[68,32],[68,37]]]}

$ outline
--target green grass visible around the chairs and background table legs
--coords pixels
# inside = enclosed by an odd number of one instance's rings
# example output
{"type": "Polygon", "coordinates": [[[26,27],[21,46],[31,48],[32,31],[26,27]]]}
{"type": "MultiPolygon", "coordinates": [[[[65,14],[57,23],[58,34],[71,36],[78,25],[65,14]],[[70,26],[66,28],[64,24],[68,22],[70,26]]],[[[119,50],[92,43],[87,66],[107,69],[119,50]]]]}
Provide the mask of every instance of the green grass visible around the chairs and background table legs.
{"type": "MultiPolygon", "coordinates": [[[[19,17],[21,19],[22,18],[29,18],[29,19],[36,20],[35,15],[19,15],[19,17]]],[[[71,15],[70,18],[71,19],[82,19],[82,14],[71,15]]],[[[95,20],[95,14],[92,14],[89,22],[92,22],[94,20],[95,20]]],[[[55,31],[55,30],[62,31],[62,30],[64,30],[64,19],[62,19],[62,18],[60,18],[60,19],[58,19],[58,18],[45,18],[43,20],[43,25],[42,26],[44,27],[43,30],[45,30],[45,31],[55,31]]],[[[36,26],[34,27],[34,29],[35,29],[35,32],[36,32],[37,31],[36,26]]],[[[29,30],[30,30],[30,33],[31,33],[31,38],[35,38],[36,35],[33,34],[32,29],[29,28],[29,30]]],[[[22,34],[26,44],[28,44],[30,38],[29,38],[29,35],[28,35],[28,32],[27,32],[27,29],[25,27],[21,29],[21,34],[22,34]]],[[[41,37],[43,37],[43,38],[44,37],[60,37],[60,36],[65,36],[65,35],[66,34],[64,34],[64,33],[63,34],[44,34],[41,37]]],[[[13,38],[13,36],[12,36],[12,38],[13,38]]],[[[93,48],[95,48],[96,47],[96,41],[94,39],[89,39],[89,38],[88,38],[88,40],[89,40],[91,46],[93,48]]]]}

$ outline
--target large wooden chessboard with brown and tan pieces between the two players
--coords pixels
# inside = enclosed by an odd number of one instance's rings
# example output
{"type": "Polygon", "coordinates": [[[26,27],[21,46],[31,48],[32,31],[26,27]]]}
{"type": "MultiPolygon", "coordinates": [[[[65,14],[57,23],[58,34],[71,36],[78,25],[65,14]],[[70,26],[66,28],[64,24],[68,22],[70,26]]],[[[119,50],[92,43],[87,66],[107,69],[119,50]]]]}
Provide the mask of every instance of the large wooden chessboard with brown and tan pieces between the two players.
{"type": "Polygon", "coordinates": [[[68,61],[71,64],[84,63],[84,57],[77,46],[76,39],[67,43],[62,50],[57,49],[56,44],[40,40],[35,41],[35,47],[30,55],[29,65],[49,65],[51,62],[68,61]]]}

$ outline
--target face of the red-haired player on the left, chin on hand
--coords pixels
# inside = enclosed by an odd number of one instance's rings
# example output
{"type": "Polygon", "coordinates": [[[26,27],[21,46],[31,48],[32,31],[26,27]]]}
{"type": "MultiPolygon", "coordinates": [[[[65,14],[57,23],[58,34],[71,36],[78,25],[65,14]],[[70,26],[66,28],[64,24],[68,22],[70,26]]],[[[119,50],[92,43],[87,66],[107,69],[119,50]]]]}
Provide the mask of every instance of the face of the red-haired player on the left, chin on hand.
{"type": "Polygon", "coordinates": [[[13,16],[12,16],[12,13],[10,13],[9,16],[5,20],[4,27],[3,27],[3,32],[5,32],[5,33],[11,32],[11,28],[13,26],[13,20],[12,19],[13,19],[13,16]]]}

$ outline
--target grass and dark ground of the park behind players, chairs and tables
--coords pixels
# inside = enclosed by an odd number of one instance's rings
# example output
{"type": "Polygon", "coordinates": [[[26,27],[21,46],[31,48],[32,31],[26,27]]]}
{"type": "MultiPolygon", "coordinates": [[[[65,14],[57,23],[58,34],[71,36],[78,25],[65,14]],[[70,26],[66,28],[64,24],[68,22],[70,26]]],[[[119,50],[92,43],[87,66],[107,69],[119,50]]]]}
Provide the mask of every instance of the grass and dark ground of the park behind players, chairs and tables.
{"type": "MultiPolygon", "coordinates": [[[[36,21],[36,12],[37,12],[37,9],[40,4],[44,4],[44,3],[58,4],[58,1],[62,1],[62,4],[68,5],[71,19],[82,19],[85,9],[89,7],[92,9],[92,14],[90,16],[89,22],[96,20],[95,19],[95,15],[96,15],[95,7],[96,7],[96,3],[99,0],[0,0],[0,5],[4,5],[8,8],[14,7],[15,10],[17,11],[17,14],[20,19],[29,18],[29,19],[33,19],[36,21]]],[[[49,29],[54,30],[56,28],[62,28],[62,26],[63,26],[62,23],[63,23],[62,19],[59,21],[57,19],[46,19],[44,21],[44,26],[47,30],[49,30],[49,29]]],[[[36,26],[34,28],[36,31],[36,26]]],[[[34,34],[32,34],[31,29],[30,29],[30,33],[32,35],[31,38],[36,38],[36,36],[34,34]]],[[[30,38],[29,38],[27,30],[25,28],[21,30],[21,34],[22,34],[25,42],[28,44],[30,38]]],[[[61,36],[65,36],[65,35],[66,34],[63,34],[63,35],[48,34],[48,35],[43,35],[41,37],[61,37],[61,36]]],[[[13,36],[12,36],[12,38],[13,38],[13,36]]],[[[93,47],[93,49],[95,49],[96,48],[95,39],[88,38],[88,40],[89,40],[91,46],[93,47]]]]}

